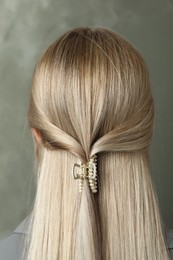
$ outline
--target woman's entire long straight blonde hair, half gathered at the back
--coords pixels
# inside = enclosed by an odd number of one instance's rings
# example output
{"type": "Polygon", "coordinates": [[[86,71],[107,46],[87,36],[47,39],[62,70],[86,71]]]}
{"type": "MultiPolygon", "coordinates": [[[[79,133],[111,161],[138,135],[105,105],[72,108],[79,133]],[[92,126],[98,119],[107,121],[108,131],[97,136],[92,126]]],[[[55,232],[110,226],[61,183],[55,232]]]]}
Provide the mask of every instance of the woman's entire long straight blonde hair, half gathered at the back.
{"type": "Polygon", "coordinates": [[[79,27],[36,65],[28,112],[40,130],[28,260],[169,259],[150,176],[154,103],[143,57],[107,28],[79,27]],[[98,157],[98,192],[72,177],[98,157]]]}

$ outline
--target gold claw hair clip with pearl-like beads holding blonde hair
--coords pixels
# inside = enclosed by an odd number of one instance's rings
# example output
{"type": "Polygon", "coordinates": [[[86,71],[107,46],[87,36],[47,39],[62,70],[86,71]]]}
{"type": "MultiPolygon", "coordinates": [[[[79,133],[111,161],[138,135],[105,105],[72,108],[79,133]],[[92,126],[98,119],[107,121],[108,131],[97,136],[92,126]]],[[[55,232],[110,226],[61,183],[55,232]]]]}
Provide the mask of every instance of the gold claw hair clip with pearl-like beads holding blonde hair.
{"type": "Polygon", "coordinates": [[[88,178],[90,189],[93,193],[97,192],[97,155],[93,155],[89,162],[83,164],[74,163],[73,178],[79,179],[79,192],[83,190],[83,182],[88,178]]]}

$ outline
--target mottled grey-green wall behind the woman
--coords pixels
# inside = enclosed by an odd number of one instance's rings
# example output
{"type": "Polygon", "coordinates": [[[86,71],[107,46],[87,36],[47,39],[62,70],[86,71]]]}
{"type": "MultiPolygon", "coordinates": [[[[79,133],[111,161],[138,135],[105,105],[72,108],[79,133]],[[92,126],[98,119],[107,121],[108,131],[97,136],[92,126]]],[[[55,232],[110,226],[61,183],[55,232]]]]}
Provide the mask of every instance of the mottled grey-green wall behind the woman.
{"type": "Polygon", "coordinates": [[[144,56],[156,106],[152,176],[165,224],[173,228],[172,0],[0,1],[0,237],[28,214],[34,154],[27,129],[28,91],[37,59],[66,30],[103,26],[144,56]]]}

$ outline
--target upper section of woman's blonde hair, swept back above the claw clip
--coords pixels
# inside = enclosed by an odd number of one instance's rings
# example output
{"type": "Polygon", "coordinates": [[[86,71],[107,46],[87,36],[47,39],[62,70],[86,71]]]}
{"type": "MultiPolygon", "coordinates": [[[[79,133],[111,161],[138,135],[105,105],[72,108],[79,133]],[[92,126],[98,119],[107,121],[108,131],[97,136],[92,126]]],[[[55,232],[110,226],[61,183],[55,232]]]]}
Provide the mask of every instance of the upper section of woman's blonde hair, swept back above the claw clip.
{"type": "Polygon", "coordinates": [[[65,33],[37,65],[30,125],[44,142],[84,161],[94,153],[148,147],[153,114],[141,55],[108,29],[65,33]]]}

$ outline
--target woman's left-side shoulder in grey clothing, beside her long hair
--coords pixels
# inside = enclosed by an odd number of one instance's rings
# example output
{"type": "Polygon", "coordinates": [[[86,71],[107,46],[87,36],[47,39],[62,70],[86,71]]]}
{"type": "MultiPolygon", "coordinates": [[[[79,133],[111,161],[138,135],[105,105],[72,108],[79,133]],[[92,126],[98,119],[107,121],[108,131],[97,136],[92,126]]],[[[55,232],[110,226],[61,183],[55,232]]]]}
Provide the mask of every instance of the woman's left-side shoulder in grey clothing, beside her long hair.
{"type": "Polygon", "coordinates": [[[26,234],[26,225],[28,217],[26,217],[15,230],[7,237],[0,240],[0,259],[3,260],[19,260],[21,252],[21,242],[23,235],[26,234]]]}

